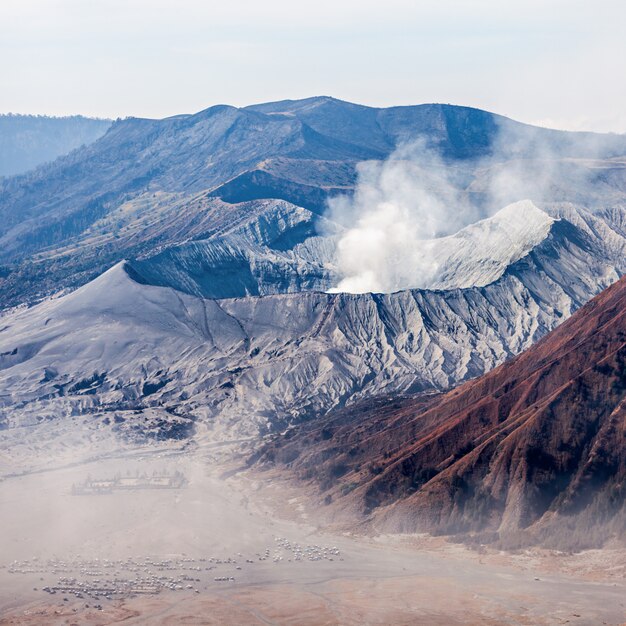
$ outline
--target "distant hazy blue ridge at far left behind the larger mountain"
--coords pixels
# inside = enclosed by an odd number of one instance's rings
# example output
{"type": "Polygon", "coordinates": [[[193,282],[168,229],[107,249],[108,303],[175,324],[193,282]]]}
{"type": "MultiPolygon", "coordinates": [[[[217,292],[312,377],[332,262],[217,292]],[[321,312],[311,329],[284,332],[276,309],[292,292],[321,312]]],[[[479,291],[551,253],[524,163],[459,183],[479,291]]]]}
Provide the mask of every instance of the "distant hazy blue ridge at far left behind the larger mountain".
{"type": "Polygon", "coordinates": [[[111,123],[82,115],[0,115],[0,177],[22,174],[91,144],[111,123]]]}

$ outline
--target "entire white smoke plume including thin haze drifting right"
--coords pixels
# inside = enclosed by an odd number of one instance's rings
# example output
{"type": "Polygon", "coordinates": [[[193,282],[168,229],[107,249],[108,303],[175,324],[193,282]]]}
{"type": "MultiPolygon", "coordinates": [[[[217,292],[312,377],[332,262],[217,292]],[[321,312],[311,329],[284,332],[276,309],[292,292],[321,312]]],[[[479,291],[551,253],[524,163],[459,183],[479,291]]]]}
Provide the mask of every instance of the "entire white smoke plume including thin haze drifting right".
{"type": "Polygon", "coordinates": [[[428,240],[519,200],[552,206],[556,217],[554,207],[566,201],[592,210],[606,206],[610,189],[593,160],[606,153],[607,136],[551,133],[507,124],[482,160],[444,162],[418,141],[385,161],[359,164],[354,195],[329,202],[327,216],[345,229],[336,250],[339,281],[330,291],[428,287],[438,275],[428,240]],[[569,156],[574,152],[578,158],[569,156]]]}

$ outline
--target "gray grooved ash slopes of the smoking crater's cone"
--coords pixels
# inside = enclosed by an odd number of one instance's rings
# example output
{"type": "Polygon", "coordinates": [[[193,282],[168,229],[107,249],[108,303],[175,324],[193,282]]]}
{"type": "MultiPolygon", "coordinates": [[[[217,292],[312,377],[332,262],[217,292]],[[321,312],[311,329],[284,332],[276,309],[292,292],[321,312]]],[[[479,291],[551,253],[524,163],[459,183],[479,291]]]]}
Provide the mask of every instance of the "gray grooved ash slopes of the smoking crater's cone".
{"type": "MultiPolygon", "coordinates": [[[[446,289],[216,300],[179,285],[179,268],[160,268],[169,286],[138,281],[131,261],[6,314],[3,451],[11,458],[26,433],[52,428],[63,440],[77,424],[137,440],[254,438],[359,398],[446,389],[484,373],[625,270],[623,212],[561,206],[550,218],[531,207],[540,241],[499,276],[490,268],[481,287],[455,288],[448,276],[446,289]]],[[[488,236],[508,212],[468,229],[488,236]]],[[[460,274],[479,276],[482,261],[468,255],[460,274]]]]}

